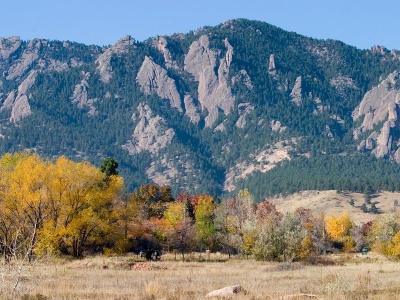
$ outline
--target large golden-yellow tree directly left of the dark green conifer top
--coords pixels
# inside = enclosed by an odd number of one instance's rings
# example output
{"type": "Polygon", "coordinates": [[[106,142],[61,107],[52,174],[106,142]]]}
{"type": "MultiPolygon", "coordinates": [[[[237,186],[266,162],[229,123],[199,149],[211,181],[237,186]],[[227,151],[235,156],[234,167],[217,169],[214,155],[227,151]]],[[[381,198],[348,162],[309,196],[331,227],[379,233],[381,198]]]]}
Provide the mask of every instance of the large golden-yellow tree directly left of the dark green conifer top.
{"type": "Polygon", "coordinates": [[[117,220],[113,204],[121,196],[123,179],[64,156],[51,165],[49,177],[53,210],[45,230],[53,234],[46,243],[80,257],[88,246],[112,235],[117,220]]]}

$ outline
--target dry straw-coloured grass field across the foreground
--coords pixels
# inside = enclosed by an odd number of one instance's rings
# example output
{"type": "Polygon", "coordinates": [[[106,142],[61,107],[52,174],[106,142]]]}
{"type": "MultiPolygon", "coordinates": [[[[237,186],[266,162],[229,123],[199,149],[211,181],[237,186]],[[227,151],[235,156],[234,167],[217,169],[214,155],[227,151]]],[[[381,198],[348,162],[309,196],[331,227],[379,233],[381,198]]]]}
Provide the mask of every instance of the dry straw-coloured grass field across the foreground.
{"type": "MultiPolygon", "coordinates": [[[[227,259],[220,254],[188,255],[174,261],[163,255],[150,270],[134,270],[136,256],[95,256],[53,261],[43,283],[23,299],[205,299],[207,292],[240,284],[247,294],[234,299],[286,299],[310,293],[319,299],[399,299],[400,263],[367,254],[329,255],[333,265],[270,263],[253,259],[227,259]],[[55,263],[56,262],[56,263],[55,263]]],[[[40,268],[36,270],[40,272],[40,268]]],[[[294,297],[290,299],[304,299],[294,297]]]]}

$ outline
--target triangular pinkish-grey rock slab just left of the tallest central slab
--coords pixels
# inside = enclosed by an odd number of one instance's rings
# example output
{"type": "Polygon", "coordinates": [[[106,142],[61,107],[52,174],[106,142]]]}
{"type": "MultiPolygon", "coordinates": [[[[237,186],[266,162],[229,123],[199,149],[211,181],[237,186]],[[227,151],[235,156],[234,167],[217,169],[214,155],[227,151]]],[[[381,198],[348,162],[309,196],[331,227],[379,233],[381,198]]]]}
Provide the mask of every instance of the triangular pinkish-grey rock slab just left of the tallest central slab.
{"type": "Polygon", "coordinates": [[[166,70],[156,64],[151,57],[144,57],[136,76],[136,82],[145,94],[155,92],[159,97],[168,99],[171,106],[177,108],[179,112],[183,111],[175,80],[170,78],[166,70]]]}

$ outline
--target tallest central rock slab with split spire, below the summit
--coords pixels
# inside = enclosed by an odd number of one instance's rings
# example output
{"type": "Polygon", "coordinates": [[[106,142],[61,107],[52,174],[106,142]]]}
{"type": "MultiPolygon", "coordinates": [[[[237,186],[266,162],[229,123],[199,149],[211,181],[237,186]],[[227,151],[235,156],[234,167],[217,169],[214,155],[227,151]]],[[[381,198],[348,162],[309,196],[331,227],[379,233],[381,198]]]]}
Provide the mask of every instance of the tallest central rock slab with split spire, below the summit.
{"type": "Polygon", "coordinates": [[[208,113],[205,117],[206,127],[215,123],[219,109],[228,114],[234,103],[234,96],[227,84],[233,49],[226,38],[225,47],[226,53],[219,60],[217,74],[214,68],[217,65],[218,52],[209,48],[207,35],[201,35],[198,40],[193,41],[184,59],[185,71],[198,81],[198,101],[201,109],[208,113]]]}

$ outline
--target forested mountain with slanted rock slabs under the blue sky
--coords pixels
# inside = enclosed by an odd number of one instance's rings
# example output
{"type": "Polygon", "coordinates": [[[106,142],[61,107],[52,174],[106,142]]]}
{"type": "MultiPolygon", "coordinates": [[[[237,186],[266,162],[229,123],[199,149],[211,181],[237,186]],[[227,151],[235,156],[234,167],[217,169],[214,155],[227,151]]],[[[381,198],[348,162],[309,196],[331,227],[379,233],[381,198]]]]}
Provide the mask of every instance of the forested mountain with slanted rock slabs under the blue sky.
{"type": "Polygon", "coordinates": [[[0,38],[0,152],[99,165],[257,199],[400,190],[400,52],[228,20],[104,47],[0,38]]]}

